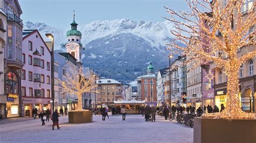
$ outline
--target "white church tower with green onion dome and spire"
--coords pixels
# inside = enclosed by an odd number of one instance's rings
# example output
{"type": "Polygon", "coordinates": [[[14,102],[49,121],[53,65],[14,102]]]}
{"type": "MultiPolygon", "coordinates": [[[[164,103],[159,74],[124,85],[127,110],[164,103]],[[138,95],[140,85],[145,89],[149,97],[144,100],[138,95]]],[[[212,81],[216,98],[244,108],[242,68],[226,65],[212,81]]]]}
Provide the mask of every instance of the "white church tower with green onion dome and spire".
{"type": "Polygon", "coordinates": [[[75,22],[75,10],[73,15],[73,22],[70,24],[71,30],[66,32],[66,37],[68,38],[68,43],[65,45],[66,52],[70,53],[77,59],[77,66],[82,66],[81,52],[83,45],[80,43],[82,38],[82,33],[77,30],[77,23],[75,22]]]}

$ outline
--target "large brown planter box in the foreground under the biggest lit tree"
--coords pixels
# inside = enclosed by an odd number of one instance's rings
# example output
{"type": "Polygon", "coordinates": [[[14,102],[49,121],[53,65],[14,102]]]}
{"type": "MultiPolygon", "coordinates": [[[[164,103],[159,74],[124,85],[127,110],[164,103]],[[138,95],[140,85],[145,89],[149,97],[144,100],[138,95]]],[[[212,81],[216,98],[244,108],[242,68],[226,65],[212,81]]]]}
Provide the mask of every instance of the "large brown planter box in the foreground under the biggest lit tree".
{"type": "Polygon", "coordinates": [[[256,142],[256,119],[194,118],[194,143],[256,142]]]}

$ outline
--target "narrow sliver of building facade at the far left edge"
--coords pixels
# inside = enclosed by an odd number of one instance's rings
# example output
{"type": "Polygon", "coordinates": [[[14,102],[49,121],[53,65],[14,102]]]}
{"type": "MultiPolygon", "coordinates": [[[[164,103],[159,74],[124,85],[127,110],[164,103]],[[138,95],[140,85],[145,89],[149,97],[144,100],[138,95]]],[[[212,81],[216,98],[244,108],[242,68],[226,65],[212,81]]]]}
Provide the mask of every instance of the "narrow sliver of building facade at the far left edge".
{"type": "Polygon", "coordinates": [[[6,96],[4,95],[4,47],[6,44],[7,15],[4,1],[0,2],[0,119],[6,118],[6,96]]]}

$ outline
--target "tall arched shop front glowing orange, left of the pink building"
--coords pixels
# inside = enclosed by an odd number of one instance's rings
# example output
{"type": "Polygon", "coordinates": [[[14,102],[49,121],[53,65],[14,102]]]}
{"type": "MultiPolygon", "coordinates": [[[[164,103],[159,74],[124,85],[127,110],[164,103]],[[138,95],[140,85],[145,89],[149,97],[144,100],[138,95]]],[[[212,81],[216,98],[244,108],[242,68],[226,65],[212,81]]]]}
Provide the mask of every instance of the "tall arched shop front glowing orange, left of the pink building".
{"type": "Polygon", "coordinates": [[[20,81],[18,73],[9,71],[5,74],[5,93],[6,93],[6,114],[7,118],[21,116],[21,95],[20,81]]]}

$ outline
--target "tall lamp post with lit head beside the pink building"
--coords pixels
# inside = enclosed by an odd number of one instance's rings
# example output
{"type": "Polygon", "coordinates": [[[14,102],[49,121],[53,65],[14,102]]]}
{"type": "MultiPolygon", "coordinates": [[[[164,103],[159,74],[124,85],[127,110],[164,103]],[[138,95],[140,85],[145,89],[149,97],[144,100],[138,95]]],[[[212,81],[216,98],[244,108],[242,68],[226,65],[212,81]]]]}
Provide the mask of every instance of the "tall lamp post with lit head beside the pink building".
{"type": "Polygon", "coordinates": [[[53,71],[53,66],[54,66],[54,45],[53,45],[53,35],[51,33],[46,33],[46,37],[51,38],[51,96],[52,96],[52,113],[55,111],[54,110],[54,102],[55,102],[55,95],[54,95],[54,71],[53,71]]]}

